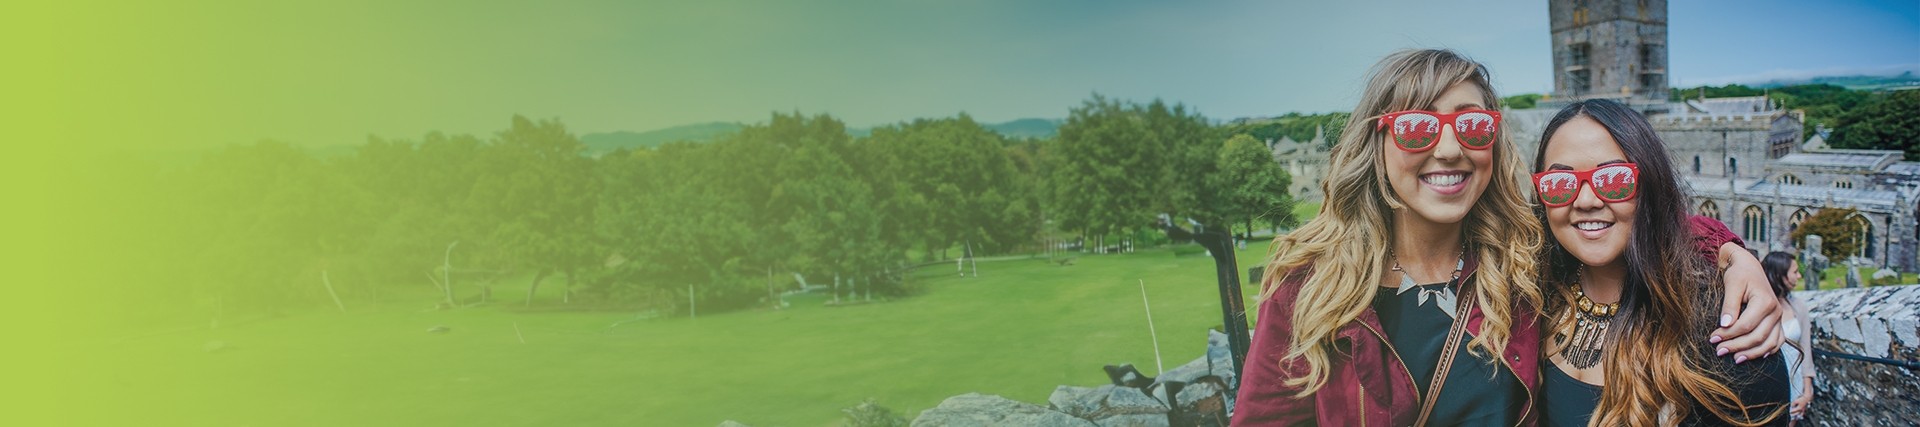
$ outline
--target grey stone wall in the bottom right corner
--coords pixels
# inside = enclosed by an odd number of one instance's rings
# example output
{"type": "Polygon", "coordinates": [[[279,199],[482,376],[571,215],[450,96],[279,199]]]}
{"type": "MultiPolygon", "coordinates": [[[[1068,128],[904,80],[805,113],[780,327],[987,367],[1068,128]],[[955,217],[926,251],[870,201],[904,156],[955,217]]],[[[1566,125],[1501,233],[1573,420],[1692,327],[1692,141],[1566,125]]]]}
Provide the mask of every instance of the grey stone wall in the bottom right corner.
{"type": "MultiPolygon", "coordinates": [[[[1920,364],[1920,285],[1795,292],[1812,317],[1812,346],[1920,364]]],[[[1920,423],[1920,371],[1816,356],[1812,425],[1920,423]]]]}

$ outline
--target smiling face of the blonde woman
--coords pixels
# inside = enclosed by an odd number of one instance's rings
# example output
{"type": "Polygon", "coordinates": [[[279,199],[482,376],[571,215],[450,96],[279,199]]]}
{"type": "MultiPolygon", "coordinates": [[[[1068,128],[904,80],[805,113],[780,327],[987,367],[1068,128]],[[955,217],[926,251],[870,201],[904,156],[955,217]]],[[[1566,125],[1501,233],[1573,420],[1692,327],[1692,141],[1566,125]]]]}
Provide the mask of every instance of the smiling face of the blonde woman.
{"type": "MultiPolygon", "coordinates": [[[[1475,83],[1453,83],[1434,100],[1436,113],[1459,110],[1486,110],[1486,90],[1475,83]]],[[[1382,150],[1386,156],[1386,181],[1394,194],[1407,204],[1413,215],[1427,223],[1459,223],[1486,192],[1494,175],[1494,150],[1467,150],[1461,146],[1453,125],[1440,127],[1440,142],[1427,152],[1382,150]]],[[[1394,137],[1380,133],[1380,144],[1394,144],[1394,137]]]]}

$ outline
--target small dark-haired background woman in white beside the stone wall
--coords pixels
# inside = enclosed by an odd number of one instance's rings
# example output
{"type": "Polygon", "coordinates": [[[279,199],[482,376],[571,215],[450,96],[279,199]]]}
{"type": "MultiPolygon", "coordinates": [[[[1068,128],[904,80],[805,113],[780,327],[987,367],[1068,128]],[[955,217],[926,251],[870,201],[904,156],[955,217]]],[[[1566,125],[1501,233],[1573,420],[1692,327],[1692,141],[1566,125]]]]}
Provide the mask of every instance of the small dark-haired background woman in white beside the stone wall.
{"type": "Polygon", "coordinates": [[[1772,252],[1761,260],[1761,269],[1766,271],[1766,283],[1774,285],[1774,294],[1788,310],[1780,315],[1780,333],[1788,337],[1788,346],[1780,348],[1782,360],[1788,364],[1788,371],[1793,373],[1789,379],[1788,396],[1793,396],[1793,404],[1788,408],[1793,423],[1807,417],[1807,404],[1812,404],[1812,321],[1807,317],[1807,304],[1793,298],[1793,287],[1799,287],[1799,262],[1793,254],[1772,252]]]}

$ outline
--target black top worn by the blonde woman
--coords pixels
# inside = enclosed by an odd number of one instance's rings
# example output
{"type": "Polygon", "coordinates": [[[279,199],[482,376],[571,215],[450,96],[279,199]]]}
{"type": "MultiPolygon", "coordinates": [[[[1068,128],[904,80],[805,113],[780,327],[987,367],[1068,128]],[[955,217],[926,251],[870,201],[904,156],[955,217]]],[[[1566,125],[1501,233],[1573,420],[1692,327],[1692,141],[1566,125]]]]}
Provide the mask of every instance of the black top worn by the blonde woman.
{"type": "MultiPolygon", "coordinates": [[[[1421,290],[1430,294],[1444,289],[1446,283],[1419,287],[1419,290],[1409,289],[1407,292],[1380,289],[1373,298],[1373,310],[1379,312],[1380,325],[1386,327],[1386,340],[1392,342],[1396,356],[1413,373],[1419,394],[1427,394],[1453,317],[1440,310],[1436,298],[1427,298],[1421,304],[1421,290]]],[[[1465,314],[1461,312],[1461,315],[1465,314]]],[[[1453,367],[1448,371],[1440,400],[1434,402],[1432,417],[1427,423],[1500,427],[1519,423],[1526,404],[1526,387],[1521,385],[1519,377],[1513,377],[1509,367],[1500,364],[1498,354],[1494,358],[1475,356],[1467,348],[1469,340],[1473,340],[1471,333],[1461,337],[1461,348],[1453,354],[1453,367]]]]}

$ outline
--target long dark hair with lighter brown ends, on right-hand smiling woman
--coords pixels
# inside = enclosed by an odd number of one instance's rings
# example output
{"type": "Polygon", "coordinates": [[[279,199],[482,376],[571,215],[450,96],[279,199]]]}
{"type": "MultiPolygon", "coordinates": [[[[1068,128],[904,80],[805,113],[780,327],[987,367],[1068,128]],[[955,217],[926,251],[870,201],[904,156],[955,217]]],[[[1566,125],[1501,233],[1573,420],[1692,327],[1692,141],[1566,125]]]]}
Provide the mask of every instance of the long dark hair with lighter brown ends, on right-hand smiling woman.
{"type": "MultiPolygon", "coordinates": [[[[1711,358],[1695,342],[1713,329],[1718,312],[1720,275],[1693,250],[1693,235],[1686,223],[1692,204],[1680,188],[1667,144],[1638,112],[1611,100],[1582,100],[1563,108],[1540,135],[1534,171],[1546,169],[1548,144],[1561,125],[1576,117],[1592,117],[1626,152],[1626,162],[1640,167],[1634,200],[1634,231],[1626,244],[1626,283],[1620,289],[1620,310],[1609,327],[1609,342],[1601,364],[1605,383],[1594,425],[1655,425],[1661,408],[1670,406],[1674,419],[1686,419],[1690,402],[1699,402],[1718,419],[1738,425],[1759,425],[1774,415],[1755,415],[1740,396],[1705,369],[1711,358]],[[1757,421],[1755,421],[1757,419],[1757,421]]],[[[1534,204],[1534,217],[1548,229],[1546,208],[1534,204]]],[[[1546,298],[1546,314],[1553,325],[1548,354],[1565,350],[1572,333],[1572,283],[1580,262],[1548,233],[1542,256],[1542,287],[1557,298],[1546,298]]]]}

